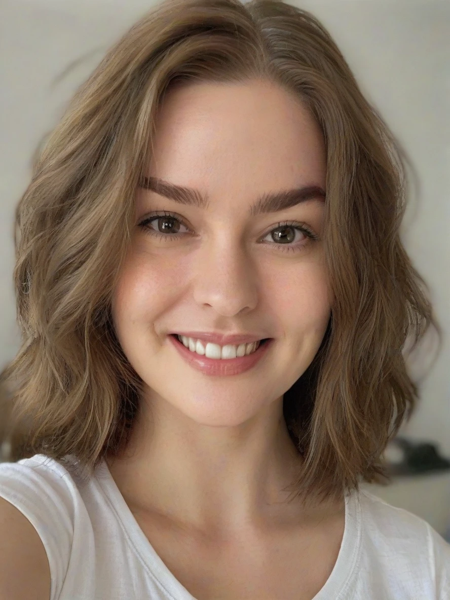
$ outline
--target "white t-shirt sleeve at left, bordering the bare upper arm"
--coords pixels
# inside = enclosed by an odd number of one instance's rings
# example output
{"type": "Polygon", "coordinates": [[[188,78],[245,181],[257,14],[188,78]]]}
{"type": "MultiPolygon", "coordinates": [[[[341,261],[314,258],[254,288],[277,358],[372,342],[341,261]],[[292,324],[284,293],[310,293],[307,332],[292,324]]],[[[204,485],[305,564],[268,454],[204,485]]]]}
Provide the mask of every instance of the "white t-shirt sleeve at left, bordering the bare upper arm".
{"type": "Polygon", "coordinates": [[[50,566],[50,600],[57,600],[70,560],[73,501],[64,473],[33,458],[0,463],[0,496],[37,530],[50,566]]]}

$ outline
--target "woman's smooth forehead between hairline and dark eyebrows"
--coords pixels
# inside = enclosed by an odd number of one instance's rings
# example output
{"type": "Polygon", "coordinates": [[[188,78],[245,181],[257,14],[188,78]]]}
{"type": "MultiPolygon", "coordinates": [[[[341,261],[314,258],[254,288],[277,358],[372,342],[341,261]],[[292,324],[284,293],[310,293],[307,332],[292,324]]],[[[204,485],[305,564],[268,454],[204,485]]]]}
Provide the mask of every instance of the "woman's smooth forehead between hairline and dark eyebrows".
{"type": "Polygon", "coordinates": [[[305,186],[325,190],[319,125],[296,97],[266,82],[169,92],[152,148],[146,176],[196,188],[212,203],[228,198],[236,206],[305,186]]]}

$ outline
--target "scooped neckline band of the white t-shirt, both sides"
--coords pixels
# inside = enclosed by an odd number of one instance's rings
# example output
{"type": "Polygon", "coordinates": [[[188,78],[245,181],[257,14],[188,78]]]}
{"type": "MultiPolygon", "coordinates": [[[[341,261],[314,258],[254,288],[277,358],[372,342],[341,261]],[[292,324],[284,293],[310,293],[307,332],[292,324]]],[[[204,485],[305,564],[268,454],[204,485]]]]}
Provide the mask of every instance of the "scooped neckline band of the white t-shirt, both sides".
{"type": "MultiPolygon", "coordinates": [[[[160,587],[172,596],[173,600],[196,600],[181,584],[158,556],[151,542],[137,523],[130,507],[125,502],[109,467],[103,460],[97,467],[95,478],[100,484],[109,505],[121,524],[124,535],[133,547],[140,562],[160,587]]],[[[340,600],[355,577],[361,553],[361,500],[358,491],[345,494],[345,525],[341,547],[334,568],[322,589],[311,600],[340,600]]]]}

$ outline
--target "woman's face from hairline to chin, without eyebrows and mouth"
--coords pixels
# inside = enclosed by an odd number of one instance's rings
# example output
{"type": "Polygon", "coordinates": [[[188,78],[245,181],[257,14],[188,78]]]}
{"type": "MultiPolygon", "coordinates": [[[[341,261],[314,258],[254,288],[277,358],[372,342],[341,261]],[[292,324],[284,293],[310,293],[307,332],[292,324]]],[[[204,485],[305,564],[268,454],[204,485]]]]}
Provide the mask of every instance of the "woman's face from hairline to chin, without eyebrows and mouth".
{"type": "Polygon", "coordinates": [[[139,188],[133,242],[113,298],[116,332],[150,405],[236,426],[304,373],[328,325],[323,197],[275,212],[274,205],[272,212],[251,209],[269,193],[325,191],[322,133],[298,100],[259,81],[172,90],[156,129],[145,176],[194,188],[208,206],[139,188]],[[289,227],[279,227],[283,221],[289,227]],[[273,340],[253,367],[236,373],[225,365],[213,375],[182,358],[169,335],[189,331],[273,340]]]}

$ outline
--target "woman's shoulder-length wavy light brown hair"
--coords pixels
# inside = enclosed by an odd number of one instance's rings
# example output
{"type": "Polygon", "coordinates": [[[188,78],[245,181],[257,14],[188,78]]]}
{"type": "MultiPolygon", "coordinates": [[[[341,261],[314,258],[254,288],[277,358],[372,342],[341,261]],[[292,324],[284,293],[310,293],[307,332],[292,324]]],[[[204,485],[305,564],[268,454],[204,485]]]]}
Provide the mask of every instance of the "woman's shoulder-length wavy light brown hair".
{"type": "Polygon", "coordinates": [[[143,387],[110,306],[158,106],[176,85],[255,79],[300,98],[326,144],[334,301],[319,351],[283,397],[304,457],[293,497],[389,479],[383,451],[419,395],[407,341],[412,350],[430,325],[441,336],[400,241],[407,155],[324,26],[279,0],[162,2],[109,49],[38,153],[16,209],[22,345],[1,374],[14,460],[42,453],[70,469],[74,457],[88,478],[127,444],[143,387]]]}

